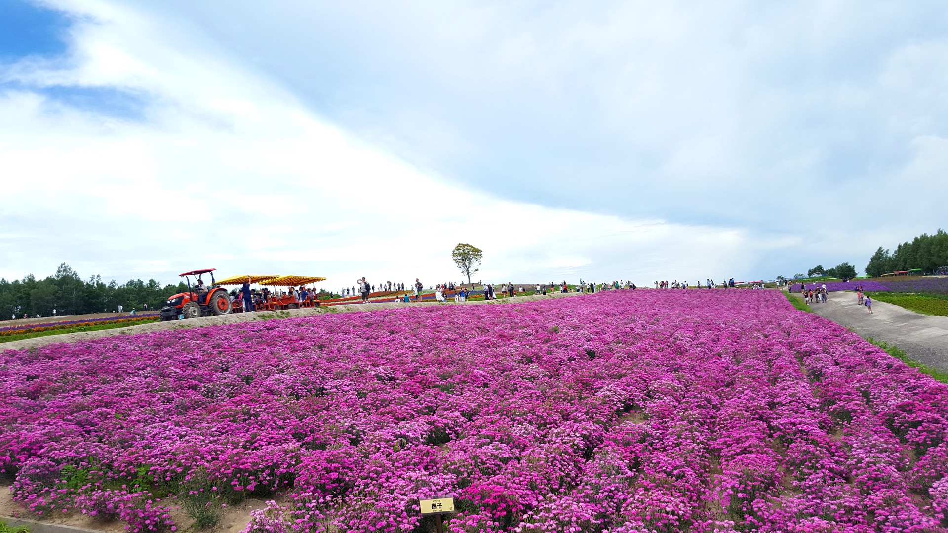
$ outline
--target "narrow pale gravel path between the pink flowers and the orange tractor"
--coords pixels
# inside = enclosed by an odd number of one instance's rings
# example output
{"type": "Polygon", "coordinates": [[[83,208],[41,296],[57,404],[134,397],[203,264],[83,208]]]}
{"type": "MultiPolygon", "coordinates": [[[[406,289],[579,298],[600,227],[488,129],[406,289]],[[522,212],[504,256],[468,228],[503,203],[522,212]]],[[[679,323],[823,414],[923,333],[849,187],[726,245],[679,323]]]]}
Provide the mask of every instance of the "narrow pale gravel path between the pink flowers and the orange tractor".
{"type": "Polygon", "coordinates": [[[579,292],[555,292],[538,296],[515,296],[513,298],[501,298],[500,300],[490,300],[484,302],[420,302],[420,303],[344,303],[333,305],[332,307],[316,307],[304,309],[292,309],[289,311],[260,312],[260,313],[240,313],[236,315],[225,315],[223,317],[201,317],[198,319],[189,319],[187,321],[171,322],[150,322],[128,327],[117,327],[113,329],[100,329],[97,331],[81,331],[78,333],[64,333],[62,335],[47,335],[45,337],[33,337],[24,340],[10,340],[9,342],[0,342],[0,350],[22,350],[24,348],[35,348],[45,346],[54,342],[75,342],[77,340],[101,339],[103,337],[114,337],[116,335],[129,335],[133,333],[148,333],[150,331],[164,331],[169,329],[184,329],[189,327],[201,327],[206,325],[218,325],[236,322],[254,322],[271,319],[288,319],[291,317],[311,317],[325,313],[349,313],[353,311],[374,311],[377,309],[399,309],[403,307],[429,307],[432,305],[493,305],[502,303],[534,302],[537,300],[550,300],[552,298],[563,298],[567,296],[578,296],[579,292]]]}

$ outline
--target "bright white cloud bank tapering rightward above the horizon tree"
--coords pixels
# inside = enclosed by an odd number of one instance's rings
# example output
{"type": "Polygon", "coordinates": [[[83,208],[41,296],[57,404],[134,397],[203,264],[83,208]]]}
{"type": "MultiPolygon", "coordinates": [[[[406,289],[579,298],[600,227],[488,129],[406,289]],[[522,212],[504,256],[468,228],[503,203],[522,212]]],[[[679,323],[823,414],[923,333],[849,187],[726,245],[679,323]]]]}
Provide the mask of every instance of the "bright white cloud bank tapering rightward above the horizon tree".
{"type": "MultiPolygon", "coordinates": [[[[109,119],[20,89],[0,98],[8,198],[0,273],[326,275],[326,285],[458,280],[458,242],[484,249],[479,279],[684,279],[723,275],[751,232],[632,220],[503,200],[452,184],[344,134],[253,71],[193,52],[154,21],[97,4],[71,66],[21,64],[27,86],[144,91],[146,120],[109,119]]],[[[735,257],[741,256],[737,262],[735,257]]],[[[697,279],[697,278],[696,278],[697,279]]]]}

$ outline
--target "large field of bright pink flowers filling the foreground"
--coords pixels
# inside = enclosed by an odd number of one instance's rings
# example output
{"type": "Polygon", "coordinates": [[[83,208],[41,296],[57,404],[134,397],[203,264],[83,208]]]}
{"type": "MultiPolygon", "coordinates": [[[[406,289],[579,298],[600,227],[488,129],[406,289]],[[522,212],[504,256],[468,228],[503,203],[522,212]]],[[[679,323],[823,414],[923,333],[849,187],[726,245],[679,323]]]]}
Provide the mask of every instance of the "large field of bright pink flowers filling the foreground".
{"type": "Polygon", "coordinates": [[[948,387],[771,290],[622,290],[3,352],[34,513],[171,530],[905,532],[948,524],[948,387]],[[204,505],[204,504],[202,504],[204,505]],[[200,509],[193,511],[200,515],[200,509]]]}

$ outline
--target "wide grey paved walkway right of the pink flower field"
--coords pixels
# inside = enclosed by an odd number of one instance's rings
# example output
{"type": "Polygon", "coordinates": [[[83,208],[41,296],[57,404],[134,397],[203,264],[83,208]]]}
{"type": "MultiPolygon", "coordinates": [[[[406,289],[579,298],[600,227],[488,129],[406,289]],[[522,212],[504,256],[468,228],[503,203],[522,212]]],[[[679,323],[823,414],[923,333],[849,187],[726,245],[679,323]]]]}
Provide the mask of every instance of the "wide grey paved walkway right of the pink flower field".
{"type": "MultiPolygon", "coordinates": [[[[795,293],[799,296],[799,293],[795,293]]],[[[948,371],[948,317],[929,317],[892,303],[872,301],[872,314],[856,303],[856,293],[830,292],[827,303],[811,303],[813,311],[862,337],[894,344],[908,357],[948,371]]]]}

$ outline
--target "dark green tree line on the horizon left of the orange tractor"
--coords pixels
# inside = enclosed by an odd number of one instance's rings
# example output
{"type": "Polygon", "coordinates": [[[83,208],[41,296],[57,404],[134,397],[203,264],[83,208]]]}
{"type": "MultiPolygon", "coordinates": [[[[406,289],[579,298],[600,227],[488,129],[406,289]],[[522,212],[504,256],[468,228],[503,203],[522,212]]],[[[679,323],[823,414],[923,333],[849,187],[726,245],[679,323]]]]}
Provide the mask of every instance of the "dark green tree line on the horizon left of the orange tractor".
{"type": "Polygon", "coordinates": [[[129,280],[118,285],[115,280],[105,283],[100,276],[83,281],[75,270],[65,263],[56,269],[56,274],[38,280],[29,274],[22,280],[9,282],[0,279],[0,319],[9,320],[40,315],[48,317],[56,309],[57,315],[84,315],[88,313],[115,312],[118,305],[124,311],[157,311],[168,297],[188,290],[188,285],[161,286],[155,280],[143,282],[129,280]]]}

